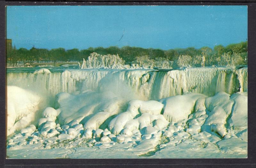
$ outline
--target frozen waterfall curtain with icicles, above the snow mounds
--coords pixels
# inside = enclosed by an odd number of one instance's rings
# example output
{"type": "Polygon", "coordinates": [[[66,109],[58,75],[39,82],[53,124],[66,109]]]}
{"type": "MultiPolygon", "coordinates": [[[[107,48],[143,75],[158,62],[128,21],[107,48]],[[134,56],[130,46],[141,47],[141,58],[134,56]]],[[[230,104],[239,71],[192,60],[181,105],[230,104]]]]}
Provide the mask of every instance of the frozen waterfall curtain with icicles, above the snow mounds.
{"type": "Polygon", "coordinates": [[[113,91],[122,97],[159,100],[187,92],[213,96],[247,92],[247,68],[183,70],[80,69],[52,73],[7,73],[7,85],[55,96],[59,92],[113,91]]]}

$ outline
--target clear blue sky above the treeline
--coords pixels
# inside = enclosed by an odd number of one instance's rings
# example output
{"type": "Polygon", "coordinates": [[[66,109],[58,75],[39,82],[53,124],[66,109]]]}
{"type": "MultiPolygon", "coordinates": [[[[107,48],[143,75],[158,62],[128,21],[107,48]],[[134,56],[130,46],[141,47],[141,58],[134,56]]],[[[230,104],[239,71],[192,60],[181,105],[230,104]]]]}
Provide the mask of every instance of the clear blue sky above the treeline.
{"type": "Polygon", "coordinates": [[[7,38],[27,49],[213,48],[246,41],[247,6],[8,6],[7,38]]]}

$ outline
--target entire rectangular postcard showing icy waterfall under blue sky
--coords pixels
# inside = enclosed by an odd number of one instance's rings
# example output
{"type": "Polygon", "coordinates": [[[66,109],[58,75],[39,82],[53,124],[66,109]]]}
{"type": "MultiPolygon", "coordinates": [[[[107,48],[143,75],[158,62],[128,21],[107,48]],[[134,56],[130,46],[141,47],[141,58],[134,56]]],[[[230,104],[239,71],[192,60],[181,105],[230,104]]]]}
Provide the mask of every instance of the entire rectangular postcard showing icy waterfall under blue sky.
{"type": "Polygon", "coordinates": [[[6,158],[247,158],[246,5],[6,6],[6,158]]]}

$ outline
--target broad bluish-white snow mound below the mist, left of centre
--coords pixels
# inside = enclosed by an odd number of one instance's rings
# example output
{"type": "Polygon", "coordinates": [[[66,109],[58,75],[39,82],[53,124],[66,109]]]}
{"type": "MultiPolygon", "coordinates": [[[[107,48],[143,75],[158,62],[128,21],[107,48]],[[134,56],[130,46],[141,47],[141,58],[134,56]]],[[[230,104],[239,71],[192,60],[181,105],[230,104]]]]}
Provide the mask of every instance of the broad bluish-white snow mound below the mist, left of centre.
{"type": "MultiPolygon", "coordinates": [[[[111,119],[120,113],[120,106],[124,103],[111,92],[60,93],[56,98],[60,124],[77,121],[84,125],[85,130],[98,129],[109,117],[111,119]]],[[[102,127],[107,124],[105,122],[102,127]]]]}

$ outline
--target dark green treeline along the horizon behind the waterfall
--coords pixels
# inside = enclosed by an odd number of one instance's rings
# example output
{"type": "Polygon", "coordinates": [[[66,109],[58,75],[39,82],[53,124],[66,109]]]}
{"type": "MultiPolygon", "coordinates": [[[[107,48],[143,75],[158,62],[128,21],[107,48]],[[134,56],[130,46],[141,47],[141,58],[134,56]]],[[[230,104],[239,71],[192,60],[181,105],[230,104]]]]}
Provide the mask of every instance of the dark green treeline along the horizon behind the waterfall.
{"type": "Polygon", "coordinates": [[[247,41],[238,44],[230,44],[226,47],[217,45],[212,50],[210,47],[202,47],[196,49],[194,47],[176,48],[170,50],[161,50],[153,48],[140,47],[116,47],[108,48],[96,47],[85,50],[64,48],[56,49],[39,49],[32,47],[30,50],[26,48],[16,49],[7,52],[7,62],[17,64],[17,62],[50,62],[50,61],[81,61],[87,59],[92,52],[97,52],[101,55],[118,54],[125,64],[130,64],[140,58],[149,60],[167,60],[173,61],[177,66],[201,66],[202,57],[205,57],[205,66],[231,66],[231,65],[246,65],[247,64],[247,41]]]}

